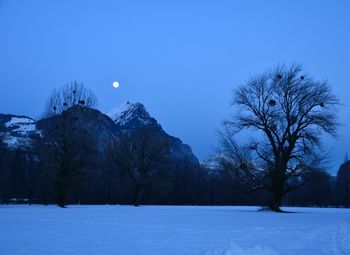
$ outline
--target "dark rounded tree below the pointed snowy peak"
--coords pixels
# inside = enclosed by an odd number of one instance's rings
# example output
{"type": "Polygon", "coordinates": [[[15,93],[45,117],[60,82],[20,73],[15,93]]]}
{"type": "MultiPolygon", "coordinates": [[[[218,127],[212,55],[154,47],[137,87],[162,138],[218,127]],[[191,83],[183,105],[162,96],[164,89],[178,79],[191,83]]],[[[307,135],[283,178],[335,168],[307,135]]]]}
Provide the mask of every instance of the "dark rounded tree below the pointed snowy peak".
{"type": "Polygon", "coordinates": [[[142,194],[169,165],[169,141],[151,128],[126,132],[114,141],[114,162],[134,184],[132,204],[138,206],[142,194]]]}

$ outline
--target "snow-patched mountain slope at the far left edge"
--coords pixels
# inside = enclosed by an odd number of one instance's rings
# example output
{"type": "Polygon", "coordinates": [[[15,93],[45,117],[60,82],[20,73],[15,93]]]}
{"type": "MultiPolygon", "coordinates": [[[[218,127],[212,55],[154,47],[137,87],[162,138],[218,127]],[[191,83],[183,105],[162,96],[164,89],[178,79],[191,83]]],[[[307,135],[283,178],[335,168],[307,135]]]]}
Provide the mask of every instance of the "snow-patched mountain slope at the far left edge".
{"type": "MultiPolygon", "coordinates": [[[[0,114],[0,143],[9,149],[30,148],[35,137],[40,136],[36,122],[26,116],[0,114]]],[[[1,147],[1,144],[0,144],[1,147]]]]}

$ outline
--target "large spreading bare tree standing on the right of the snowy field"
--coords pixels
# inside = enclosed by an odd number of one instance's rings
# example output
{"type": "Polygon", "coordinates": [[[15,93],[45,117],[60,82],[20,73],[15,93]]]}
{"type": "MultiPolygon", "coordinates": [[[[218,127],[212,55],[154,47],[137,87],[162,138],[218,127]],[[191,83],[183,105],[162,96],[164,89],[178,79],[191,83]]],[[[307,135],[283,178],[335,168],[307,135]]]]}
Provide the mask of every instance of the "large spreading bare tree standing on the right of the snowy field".
{"type": "Polygon", "coordinates": [[[338,99],[326,81],[315,81],[301,66],[280,66],[251,78],[234,91],[236,114],[225,121],[221,159],[244,177],[250,189],[272,194],[269,207],[280,211],[285,194],[320,161],[321,137],[335,135],[338,99]],[[233,138],[255,131],[245,146],[233,138]],[[231,164],[231,165],[230,165],[231,164]]]}

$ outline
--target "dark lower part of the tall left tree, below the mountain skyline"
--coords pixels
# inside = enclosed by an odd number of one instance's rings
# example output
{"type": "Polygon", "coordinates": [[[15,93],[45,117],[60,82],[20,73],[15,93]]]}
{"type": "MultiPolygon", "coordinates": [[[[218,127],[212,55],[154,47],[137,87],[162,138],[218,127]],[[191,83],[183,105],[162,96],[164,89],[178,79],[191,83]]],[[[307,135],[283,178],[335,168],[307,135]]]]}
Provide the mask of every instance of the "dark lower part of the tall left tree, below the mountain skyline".
{"type": "MultiPolygon", "coordinates": [[[[83,106],[74,106],[54,116],[44,130],[46,146],[43,158],[55,172],[54,184],[57,205],[65,207],[69,192],[83,182],[83,170],[91,164],[96,152],[96,141],[84,128],[83,106]]],[[[52,169],[51,169],[52,170],[52,169]]]]}

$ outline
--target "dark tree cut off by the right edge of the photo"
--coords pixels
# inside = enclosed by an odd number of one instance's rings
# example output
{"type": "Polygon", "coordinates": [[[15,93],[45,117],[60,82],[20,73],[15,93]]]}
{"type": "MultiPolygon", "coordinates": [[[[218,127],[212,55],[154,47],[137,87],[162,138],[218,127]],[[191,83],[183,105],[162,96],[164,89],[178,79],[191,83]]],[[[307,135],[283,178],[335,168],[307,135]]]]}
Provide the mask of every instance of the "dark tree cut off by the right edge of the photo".
{"type": "Polygon", "coordinates": [[[350,207],[350,161],[342,164],[337,173],[336,197],[339,206],[350,207]]]}

